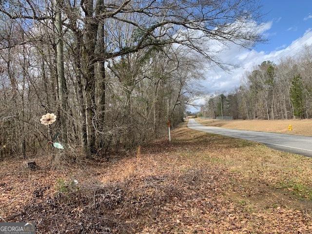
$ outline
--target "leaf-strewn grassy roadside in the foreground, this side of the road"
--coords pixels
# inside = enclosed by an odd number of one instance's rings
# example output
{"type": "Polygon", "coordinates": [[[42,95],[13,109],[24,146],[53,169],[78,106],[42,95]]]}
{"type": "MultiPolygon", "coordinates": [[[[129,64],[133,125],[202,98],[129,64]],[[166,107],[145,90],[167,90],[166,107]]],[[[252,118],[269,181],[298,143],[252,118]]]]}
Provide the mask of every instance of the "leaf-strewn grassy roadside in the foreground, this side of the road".
{"type": "Polygon", "coordinates": [[[21,212],[10,220],[34,220],[41,233],[312,233],[312,158],[186,123],[172,138],[59,171],[1,162],[1,216],[21,212]],[[64,183],[60,193],[59,178],[79,190],[64,183]]]}

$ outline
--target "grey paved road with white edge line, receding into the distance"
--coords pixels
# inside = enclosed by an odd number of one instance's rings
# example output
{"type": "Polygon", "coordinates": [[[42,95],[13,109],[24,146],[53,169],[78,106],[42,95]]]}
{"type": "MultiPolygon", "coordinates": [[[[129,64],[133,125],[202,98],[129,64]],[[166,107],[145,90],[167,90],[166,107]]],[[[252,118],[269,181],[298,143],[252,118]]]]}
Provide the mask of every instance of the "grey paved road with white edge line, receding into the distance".
{"type": "Polygon", "coordinates": [[[257,141],[277,150],[312,157],[312,137],[204,126],[194,118],[189,119],[187,126],[197,131],[257,141]]]}

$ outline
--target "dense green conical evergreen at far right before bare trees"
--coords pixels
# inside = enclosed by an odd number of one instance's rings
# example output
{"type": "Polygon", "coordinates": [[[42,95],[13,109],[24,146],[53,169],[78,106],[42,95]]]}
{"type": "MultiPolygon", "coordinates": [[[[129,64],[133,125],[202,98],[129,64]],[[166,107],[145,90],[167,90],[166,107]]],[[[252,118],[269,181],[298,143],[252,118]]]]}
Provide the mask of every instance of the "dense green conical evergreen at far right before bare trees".
{"type": "Polygon", "coordinates": [[[292,78],[292,86],[290,87],[290,95],[293,106],[293,116],[302,118],[304,117],[303,108],[303,83],[300,75],[292,78]]]}

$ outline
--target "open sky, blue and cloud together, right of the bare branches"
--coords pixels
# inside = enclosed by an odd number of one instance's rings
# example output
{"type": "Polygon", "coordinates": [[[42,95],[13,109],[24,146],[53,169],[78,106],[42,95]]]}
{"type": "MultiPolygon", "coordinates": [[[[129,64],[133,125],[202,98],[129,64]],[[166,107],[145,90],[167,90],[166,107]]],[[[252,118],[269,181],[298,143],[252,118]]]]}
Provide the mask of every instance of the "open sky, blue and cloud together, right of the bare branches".
{"type": "MultiPolygon", "coordinates": [[[[295,56],[304,45],[312,44],[312,0],[261,0],[262,34],[267,39],[252,49],[231,46],[220,53],[224,62],[238,68],[223,71],[215,67],[205,73],[200,82],[204,95],[231,92],[238,87],[242,76],[262,61],[278,64],[281,58],[295,56]]],[[[203,99],[195,103],[202,104],[203,99]]],[[[195,111],[195,108],[190,108],[195,111]]]]}

